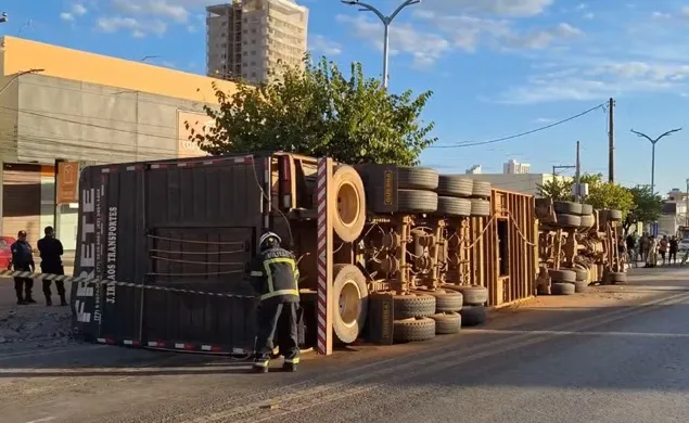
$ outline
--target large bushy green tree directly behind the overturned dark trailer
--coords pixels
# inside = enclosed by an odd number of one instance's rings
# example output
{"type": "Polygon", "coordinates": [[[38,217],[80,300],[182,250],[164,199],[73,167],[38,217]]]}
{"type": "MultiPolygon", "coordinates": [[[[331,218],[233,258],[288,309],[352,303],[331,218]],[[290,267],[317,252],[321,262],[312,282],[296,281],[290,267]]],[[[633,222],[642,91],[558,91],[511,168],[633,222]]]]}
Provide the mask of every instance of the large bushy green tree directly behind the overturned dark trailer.
{"type": "MultiPolygon", "coordinates": [[[[322,57],[305,69],[280,65],[281,78],[251,87],[238,80],[232,94],[214,85],[218,108],[204,107],[215,127],[192,133],[202,150],[217,155],[285,151],[330,156],[339,162],[412,166],[436,139],[420,115],[432,92],[390,93],[366,78],[359,63],[345,77],[322,57]]],[[[188,124],[188,123],[187,123],[188,124]]],[[[189,125],[188,125],[189,126],[189,125]]]]}

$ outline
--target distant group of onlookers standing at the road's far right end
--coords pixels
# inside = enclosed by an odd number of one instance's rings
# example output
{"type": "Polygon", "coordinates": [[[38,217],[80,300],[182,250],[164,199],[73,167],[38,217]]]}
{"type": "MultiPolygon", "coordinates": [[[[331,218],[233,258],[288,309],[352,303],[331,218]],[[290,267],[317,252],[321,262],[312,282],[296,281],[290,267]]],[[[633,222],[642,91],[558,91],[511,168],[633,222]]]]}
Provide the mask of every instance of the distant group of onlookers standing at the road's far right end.
{"type": "MultiPolygon", "coordinates": [[[[677,236],[653,236],[647,232],[637,238],[636,233],[630,233],[624,241],[620,240],[620,247],[633,266],[638,266],[638,261],[645,262],[645,267],[676,265],[679,240],[677,236]]],[[[685,258],[681,260],[684,262],[685,258]]]]}

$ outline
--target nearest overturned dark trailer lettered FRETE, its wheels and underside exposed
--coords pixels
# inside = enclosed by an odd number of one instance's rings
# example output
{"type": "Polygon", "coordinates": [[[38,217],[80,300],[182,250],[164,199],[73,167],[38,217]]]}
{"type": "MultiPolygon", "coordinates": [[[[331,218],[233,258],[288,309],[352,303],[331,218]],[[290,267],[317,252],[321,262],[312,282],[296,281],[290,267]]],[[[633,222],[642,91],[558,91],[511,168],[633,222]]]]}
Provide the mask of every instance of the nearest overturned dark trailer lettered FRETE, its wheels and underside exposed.
{"type": "Polygon", "coordinates": [[[456,333],[462,317],[481,323],[486,306],[533,295],[533,197],[433,169],[339,164],[321,197],[318,164],[256,153],[85,168],[75,273],[104,282],[74,283],[74,332],[248,352],[257,307],[248,264],[272,230],[298,259],[303,343],[316,345],[321,204],[333,234],[326,307],[337,342],[456,333]]]}

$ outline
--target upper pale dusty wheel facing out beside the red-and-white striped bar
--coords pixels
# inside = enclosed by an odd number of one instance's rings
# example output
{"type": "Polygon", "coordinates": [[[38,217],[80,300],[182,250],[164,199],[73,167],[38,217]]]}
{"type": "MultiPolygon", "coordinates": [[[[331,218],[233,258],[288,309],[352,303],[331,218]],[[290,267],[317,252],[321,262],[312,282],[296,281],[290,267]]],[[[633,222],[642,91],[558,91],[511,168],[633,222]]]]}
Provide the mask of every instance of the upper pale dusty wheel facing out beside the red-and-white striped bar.
{"type": "Polygon", "coordinates": [[[361,236],[366,225],[366,193],[363,181],[353,167],[339,166],[332,176],[336,208],[332,218],[332,229],[344,242],[353,242],[361,236]]]}

